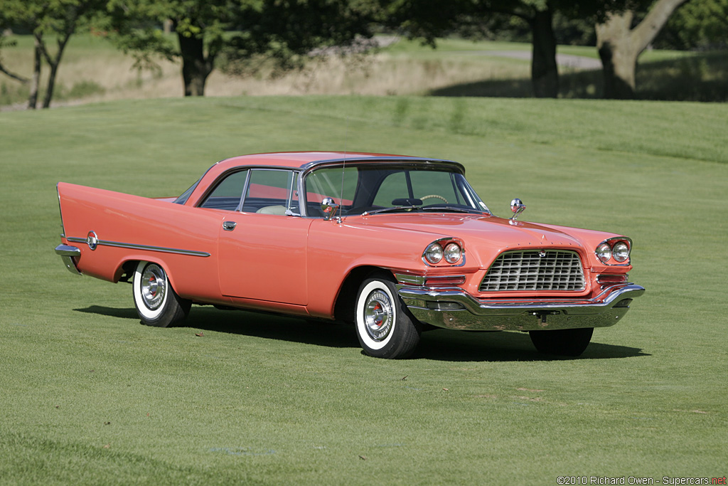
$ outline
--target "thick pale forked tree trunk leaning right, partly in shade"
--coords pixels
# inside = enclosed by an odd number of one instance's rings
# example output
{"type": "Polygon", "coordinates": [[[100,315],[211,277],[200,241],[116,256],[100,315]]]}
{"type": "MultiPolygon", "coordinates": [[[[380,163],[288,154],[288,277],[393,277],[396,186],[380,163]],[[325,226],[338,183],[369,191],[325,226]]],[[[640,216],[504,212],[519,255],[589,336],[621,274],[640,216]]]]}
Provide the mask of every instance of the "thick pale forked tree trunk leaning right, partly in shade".
{"type": "Polygon", "coordinates": [[[612,12],[596,26],[597,50],[604,71],[604,98],[634,98],[637,58],[660,32],[673,11],[687,0],[658,0],[632,26],[632,9],[612,12]]]}

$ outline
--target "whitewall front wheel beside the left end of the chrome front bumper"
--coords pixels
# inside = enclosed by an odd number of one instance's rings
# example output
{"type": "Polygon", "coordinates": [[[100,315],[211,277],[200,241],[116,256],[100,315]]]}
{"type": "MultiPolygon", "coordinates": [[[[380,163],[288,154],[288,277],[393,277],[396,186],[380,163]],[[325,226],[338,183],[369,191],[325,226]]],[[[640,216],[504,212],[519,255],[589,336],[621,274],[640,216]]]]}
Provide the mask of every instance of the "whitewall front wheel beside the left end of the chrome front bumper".
{"type": "Polygon", "coordinates": [[[357,337],[375,358],[406,358],[419,344],[419,329],[387,275],[373,275],[359,287],[355,307],[357,337]]]}

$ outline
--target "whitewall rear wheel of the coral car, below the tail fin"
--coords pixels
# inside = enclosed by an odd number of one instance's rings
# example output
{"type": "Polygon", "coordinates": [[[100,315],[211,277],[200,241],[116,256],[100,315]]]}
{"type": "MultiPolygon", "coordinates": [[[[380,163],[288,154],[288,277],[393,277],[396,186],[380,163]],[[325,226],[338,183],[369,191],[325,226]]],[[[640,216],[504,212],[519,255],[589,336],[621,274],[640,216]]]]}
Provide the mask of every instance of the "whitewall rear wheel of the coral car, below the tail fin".
{"type": "Polygon", "coordinates": [[[156,263],[139,262],[132,287],[134,306],[142,324],[167,327],[189,314],[192,302],[175,293],[167,273],[156,263]]]}

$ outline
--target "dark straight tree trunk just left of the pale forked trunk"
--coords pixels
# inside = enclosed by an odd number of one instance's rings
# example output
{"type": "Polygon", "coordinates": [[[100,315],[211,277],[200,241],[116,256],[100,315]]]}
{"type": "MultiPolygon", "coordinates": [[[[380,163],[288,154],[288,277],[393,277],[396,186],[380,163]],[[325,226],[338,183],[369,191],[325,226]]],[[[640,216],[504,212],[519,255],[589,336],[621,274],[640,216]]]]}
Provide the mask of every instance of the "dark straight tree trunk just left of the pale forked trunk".
{"type": "Polygon", "coordinates": [[[531,19],[533,55],[531,82],[537,98],[558,98],[558,65],[556,38],[553,34],[551,9],[538,10],[531,19]]]}

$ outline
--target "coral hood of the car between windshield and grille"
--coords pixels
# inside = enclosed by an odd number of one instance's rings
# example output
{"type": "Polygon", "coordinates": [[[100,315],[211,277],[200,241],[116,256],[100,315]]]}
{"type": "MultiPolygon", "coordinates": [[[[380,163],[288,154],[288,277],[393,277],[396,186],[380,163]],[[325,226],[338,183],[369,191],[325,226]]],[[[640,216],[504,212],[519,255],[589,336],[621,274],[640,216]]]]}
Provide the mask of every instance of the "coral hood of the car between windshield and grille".
{"type": "Polygon", "coordinates": [[[511,221],[496,216],[475,214],[373,214],[347,218],[348,224],[366,227],[411,230],[432,235],[432,240],[443,237],[461,238],[466,251],[475,251],[484,260],[506,250],[518,248],[571,248],[577,250],[583,242],[563,230],[539,224],[511,221]]]}

